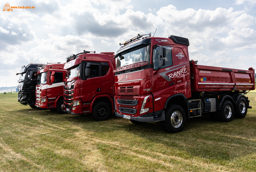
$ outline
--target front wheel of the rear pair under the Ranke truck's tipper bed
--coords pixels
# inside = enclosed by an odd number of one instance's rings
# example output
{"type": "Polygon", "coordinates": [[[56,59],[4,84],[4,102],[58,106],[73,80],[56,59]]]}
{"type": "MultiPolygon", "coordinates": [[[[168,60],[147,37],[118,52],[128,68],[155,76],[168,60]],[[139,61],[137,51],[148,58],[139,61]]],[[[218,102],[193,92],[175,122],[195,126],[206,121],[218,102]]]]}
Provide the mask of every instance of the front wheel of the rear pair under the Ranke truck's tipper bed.
{"type": "Polygon", "coordinates": [[[224,101],[222,108],[218,111],[218,120],[220,122],[230,122],[234,118],[234,106],[229,100],[224,101]]]}

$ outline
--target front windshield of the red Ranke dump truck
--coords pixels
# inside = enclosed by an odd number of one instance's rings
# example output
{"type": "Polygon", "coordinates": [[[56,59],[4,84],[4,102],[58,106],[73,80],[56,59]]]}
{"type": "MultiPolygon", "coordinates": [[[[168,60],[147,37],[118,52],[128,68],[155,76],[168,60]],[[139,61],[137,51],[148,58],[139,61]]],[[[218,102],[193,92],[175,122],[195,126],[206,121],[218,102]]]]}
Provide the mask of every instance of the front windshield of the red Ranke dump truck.
{"type": "Polygon", "coordinates": [[[148,62],[150,60],[150,44],[141,45],[122,52],[116,62],[116,68],[127,66],[138,62],[148,62]]]}

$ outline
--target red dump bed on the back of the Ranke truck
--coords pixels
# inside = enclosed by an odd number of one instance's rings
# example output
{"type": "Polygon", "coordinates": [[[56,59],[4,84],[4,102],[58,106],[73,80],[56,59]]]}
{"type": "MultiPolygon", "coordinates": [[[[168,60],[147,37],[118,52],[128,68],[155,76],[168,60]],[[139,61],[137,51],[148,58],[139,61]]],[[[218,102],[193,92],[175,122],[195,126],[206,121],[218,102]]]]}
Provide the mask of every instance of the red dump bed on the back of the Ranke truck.
{"type": "Polygon", "coordinates": [[[192,92],[255,90],[254,69],[239,70],[203,66],[190,61],[190,80],[192,92]]]}

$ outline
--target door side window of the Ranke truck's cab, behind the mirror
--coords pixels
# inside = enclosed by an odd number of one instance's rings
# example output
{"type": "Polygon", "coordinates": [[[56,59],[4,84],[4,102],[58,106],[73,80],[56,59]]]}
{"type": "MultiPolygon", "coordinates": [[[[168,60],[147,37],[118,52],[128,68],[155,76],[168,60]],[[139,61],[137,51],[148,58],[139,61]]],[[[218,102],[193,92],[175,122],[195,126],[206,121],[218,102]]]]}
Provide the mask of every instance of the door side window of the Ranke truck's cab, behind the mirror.
{"type": "MultiPolygon", "coordinates": [[[[161,68],[167,66],[172,66],[172,46],[163,46],[166,49],[166,56],[164,58],[165,65],[161,68]]],[[[153,69],[156,70],[159,67],[159,47],[154,48],[153,50],[153,69]]]]}

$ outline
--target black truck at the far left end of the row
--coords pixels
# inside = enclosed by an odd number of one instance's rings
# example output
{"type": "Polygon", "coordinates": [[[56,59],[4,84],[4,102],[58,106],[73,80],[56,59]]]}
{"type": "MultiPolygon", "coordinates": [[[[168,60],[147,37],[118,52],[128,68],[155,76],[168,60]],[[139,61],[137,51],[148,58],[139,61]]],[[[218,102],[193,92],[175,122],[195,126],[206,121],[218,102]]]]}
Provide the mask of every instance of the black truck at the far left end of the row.
{"type": "Polygon", "coordinates": [[[36,103],[36,84],[38,68],[41,68],[43,64],[28,64],[22,66],[20,73],[20,79],[18,80],[18,102],[20,104],[29,105],[31,108],[35,108],[36,103]]]}

